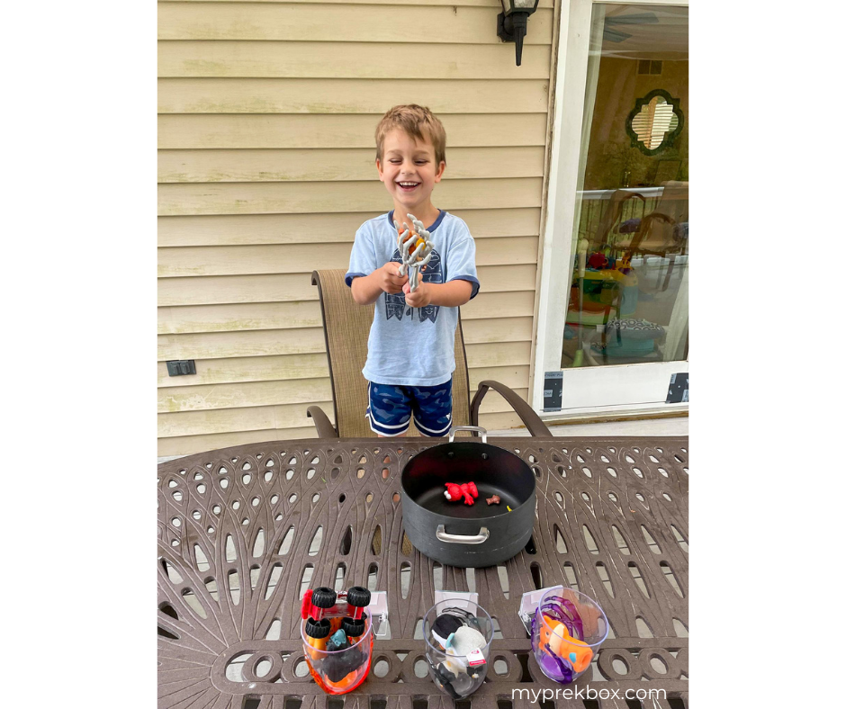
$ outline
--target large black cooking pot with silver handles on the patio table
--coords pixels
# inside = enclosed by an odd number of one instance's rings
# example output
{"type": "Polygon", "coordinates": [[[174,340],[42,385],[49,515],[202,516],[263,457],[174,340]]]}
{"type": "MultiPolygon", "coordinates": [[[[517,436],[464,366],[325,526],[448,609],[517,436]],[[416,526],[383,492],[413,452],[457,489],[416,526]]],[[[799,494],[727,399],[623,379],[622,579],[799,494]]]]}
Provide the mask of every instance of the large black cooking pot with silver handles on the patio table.
{"type": "Polygon", "coordinates": [[[459,567],[492,566],[509,560],[528,542],[535,525],[535,475],[517,455],[487,443],[478,426],[455,426],[449,443],[414,455],[401,473],[402,520],[422,554],[459,567]],[[480,431],[482,443],[455,431],[480,431]],[[446,499],[446,483],[473,481],[473,505],[446,499]],[[499,495],[499,505],[486,498],[499,495]],[[509,507],[511,511],[509,512],[509,507]]]}

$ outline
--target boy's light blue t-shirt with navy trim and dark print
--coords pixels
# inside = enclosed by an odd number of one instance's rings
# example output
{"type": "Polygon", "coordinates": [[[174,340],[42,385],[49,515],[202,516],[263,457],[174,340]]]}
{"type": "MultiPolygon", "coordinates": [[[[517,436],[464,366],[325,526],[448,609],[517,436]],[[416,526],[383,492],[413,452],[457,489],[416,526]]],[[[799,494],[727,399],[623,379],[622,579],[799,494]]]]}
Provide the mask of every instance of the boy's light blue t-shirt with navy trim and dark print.
{"type": "MultiPolygon", "coordinates": [[[[406,220],[408,221],[408,220],[406,220]]],[[[464,220],[441,210],[428,228],[435,245],[420,282],[473,283],[471,298],[479,292],[476,245],[464,220]]],[[[389,261],[401,263],[393,210],[365,221],[356,232],[349,256],[347,285],[353,278],[370,275],[389,261]]],[[[379,384],[426,387],[443,384],[455,370],[455,328],[458,308],[428,305],[411,308],[405,293],[383,292],[375,302],[374,324],[367,341],[367,362],[362,373],[379,384]]]]}

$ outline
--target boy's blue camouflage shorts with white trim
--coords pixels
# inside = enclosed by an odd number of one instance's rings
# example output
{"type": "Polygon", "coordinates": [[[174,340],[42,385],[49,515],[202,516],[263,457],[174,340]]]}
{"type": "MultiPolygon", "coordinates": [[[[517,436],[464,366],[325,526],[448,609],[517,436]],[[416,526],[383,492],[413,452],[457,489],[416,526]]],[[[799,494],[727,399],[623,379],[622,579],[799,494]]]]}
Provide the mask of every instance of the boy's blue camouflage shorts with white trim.
{"type": "Polygon", "coordinates": [[[368,390],[370,406],[366,417],[377,434],[404,434],[409,430],[412,416],[414,426],[422,435],[446,435],[452,426],[452,379],[434,387],[407,387],[371,381],[368,390]]]}

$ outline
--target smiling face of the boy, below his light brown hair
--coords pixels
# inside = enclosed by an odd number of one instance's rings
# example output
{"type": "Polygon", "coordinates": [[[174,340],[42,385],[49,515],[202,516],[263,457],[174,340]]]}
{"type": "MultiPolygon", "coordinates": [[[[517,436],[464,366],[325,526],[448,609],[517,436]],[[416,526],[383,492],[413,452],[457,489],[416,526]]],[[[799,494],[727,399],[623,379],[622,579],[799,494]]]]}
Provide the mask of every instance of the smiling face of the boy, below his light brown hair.
{"type": "Polygon", "coordinates": [[[393,197],[397,221],[402,223],[409,212],[424,223],[437,218],[432,190],[441,181],[446,162],[436,163],[435,147],[428,137],[420,142],[404,130],[390,131],[383,141],[383,159],[376,158],[376,168],[393,197]]]}

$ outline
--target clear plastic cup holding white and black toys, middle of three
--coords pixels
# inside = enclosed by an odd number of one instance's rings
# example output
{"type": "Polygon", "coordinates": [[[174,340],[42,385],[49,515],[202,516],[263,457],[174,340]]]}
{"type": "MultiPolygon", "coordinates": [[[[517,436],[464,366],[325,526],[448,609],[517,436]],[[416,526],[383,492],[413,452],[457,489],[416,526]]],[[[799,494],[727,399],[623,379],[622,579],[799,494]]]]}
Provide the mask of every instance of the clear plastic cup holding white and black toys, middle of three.
{"type": "Polygon", "coordinates": [[[447,598],[440,601],[429,608],[423,618],[423,638],[426,641],[429,677],[438,689],[453,699],[461,699],[472,695],[479,687],[482,687],[488,672],[493,640],[493,621],[491,621],[491,615],[488,615],[482,606],[464,598],[447,598]],[[467,616],[459,611],[475,616],[474,629],[484,636],[484,646],[469,655],[457,655],[452,648],[445,649],[432,632],[432,625],[438,615],[457,615],[459,618],[466,619],[467,616]]]}

